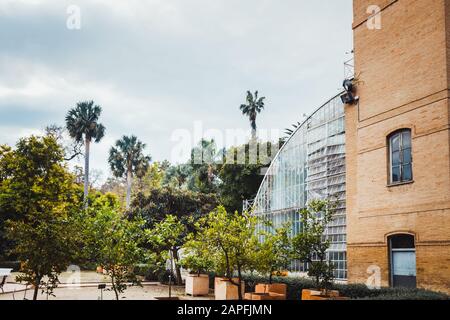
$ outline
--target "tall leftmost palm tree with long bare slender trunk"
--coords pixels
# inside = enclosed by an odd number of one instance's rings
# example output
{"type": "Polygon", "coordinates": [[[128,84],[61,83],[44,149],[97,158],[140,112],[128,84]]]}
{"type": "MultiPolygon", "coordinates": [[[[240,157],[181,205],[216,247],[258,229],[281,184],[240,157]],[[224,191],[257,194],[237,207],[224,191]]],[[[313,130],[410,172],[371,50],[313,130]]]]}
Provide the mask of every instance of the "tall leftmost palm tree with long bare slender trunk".
{"type": "Polygon", "coordinates": [[[76,142],[84,142],[84,205],[88,205],[89,192],[89,151],[92,140],[98,143],[105,135],[105,127],[98,123],[102,113],[100,106],[94,105],[94,101],[77,103],[70,109],[66,116],[66,127],[69,135],[76,142]]]}

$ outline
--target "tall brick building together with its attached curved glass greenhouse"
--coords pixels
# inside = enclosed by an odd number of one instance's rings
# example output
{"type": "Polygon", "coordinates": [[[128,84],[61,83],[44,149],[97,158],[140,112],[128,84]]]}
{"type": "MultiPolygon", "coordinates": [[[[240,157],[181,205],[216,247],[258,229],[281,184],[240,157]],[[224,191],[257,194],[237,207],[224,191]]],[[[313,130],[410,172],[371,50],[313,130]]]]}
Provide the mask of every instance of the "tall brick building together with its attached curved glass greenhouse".
{"type": "Polygon", "coordinates": [[[301,208],[337,198],[337,279],[450,292],[450,0],[354,0],[353,32],[359,100],[298,127],[253,212],[296,234],[301,208]]]}

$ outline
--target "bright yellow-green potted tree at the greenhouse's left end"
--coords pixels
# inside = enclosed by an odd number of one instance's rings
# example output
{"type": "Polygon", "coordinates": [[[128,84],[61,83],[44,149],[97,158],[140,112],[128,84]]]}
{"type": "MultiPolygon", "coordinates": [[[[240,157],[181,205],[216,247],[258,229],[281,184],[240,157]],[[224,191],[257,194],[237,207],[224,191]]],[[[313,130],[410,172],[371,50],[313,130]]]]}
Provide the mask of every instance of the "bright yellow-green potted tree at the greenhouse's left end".
{"type": "MultiPolygon", "coordinates": [[[[202,253],[214,259],[214,270],[238,288],[244,272],[255,270],[258,237],[255,227],[258,219],[246,213],[229,214],[219,206],[197,223],[196,241],[207,245],[202,253]],[[238,281],[234,280],[237,275],[238,281]]],[[[207,257],[205,257],[207,258],[207,257]]],[[[242,300],[242,292],[239,299],[242,300]]]]}

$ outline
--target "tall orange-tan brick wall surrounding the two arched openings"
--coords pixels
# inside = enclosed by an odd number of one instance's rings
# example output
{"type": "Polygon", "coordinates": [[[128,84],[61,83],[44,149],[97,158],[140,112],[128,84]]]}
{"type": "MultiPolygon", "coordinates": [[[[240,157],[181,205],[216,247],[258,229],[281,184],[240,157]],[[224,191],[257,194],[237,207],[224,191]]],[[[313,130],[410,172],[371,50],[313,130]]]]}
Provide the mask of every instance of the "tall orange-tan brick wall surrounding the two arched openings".
{"type": "Polygon", "coordinates": [[[346,106],[348,279],[381,269],[412,234],[417,286],[450,292],[450,1],[354,0],[357,105],[346,106]],[[370,30],[369,5],[381,11],[370,30]],[[389,186],[387,137],[412,132],[413,182],[389,186]]]}

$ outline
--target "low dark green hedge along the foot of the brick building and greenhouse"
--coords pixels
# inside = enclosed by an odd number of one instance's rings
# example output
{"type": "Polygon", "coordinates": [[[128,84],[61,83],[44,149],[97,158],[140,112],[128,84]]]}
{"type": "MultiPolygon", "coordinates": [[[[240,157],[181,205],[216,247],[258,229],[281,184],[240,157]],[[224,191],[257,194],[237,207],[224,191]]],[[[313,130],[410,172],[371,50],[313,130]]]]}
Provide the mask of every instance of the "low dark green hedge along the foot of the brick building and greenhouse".
{"type": "MultiPolygon", "coordinates": [[[[258,283],[269,283],[268,278],[246,275],[244,276],[247,292],[252,292],[258,283]]],[[[274,277],[273,283],[285,283],[288,287],[288,300],[300,300],[303,289],[314,288],[314,282],[307,278],[274,277]]],[[[448,300],[443,293],[423,289],[381,288],[371,290],[363,284],[334,284],[333,290],[338,290],[342,296],[361,300],[448,300]]]]}

